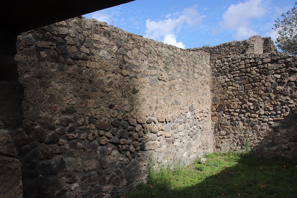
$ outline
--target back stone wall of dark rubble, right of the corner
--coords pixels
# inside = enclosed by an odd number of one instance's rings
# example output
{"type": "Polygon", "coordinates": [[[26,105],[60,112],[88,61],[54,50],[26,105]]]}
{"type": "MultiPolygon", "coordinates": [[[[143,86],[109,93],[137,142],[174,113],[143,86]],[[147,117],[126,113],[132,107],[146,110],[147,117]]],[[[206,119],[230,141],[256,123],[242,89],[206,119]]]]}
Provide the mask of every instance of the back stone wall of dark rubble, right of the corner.
{"type": "Polygon", "coordinates": [[[263,42],[252,50],[258,54],[211,54],[215,147],[241,151],[250,142],[259,156],[296,159],[297,57],[260,53],[267,48],[263,42]]]}

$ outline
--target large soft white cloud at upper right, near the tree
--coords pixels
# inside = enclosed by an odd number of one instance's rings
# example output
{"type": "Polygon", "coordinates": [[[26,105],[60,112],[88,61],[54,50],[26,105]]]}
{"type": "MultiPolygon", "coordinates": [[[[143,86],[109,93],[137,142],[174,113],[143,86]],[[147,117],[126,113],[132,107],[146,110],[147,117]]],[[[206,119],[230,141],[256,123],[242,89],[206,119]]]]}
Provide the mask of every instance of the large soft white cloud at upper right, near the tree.
{"type": "Polygon", "coordinates": [[[233,34],[235,39],[246,39],[247,37],[256,35],[257,32],[251,28],[252,18],[259,18],[266,13],[263,0],[248,0],[231,4],[223,14],[223,21],[219,25],[223,29],[235,30],[233,34]]]}

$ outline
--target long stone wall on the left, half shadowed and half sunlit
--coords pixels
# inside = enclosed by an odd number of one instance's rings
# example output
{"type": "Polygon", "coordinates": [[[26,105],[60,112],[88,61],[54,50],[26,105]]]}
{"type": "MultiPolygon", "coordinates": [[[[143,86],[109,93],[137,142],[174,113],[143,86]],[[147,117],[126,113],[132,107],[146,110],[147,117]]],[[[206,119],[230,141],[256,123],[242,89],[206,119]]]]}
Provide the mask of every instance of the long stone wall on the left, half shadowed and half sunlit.
{"type": "Polygon", "coordinates": [[[109,197],[213,151],[210,56],[74,18],[18,37],[24,197],[109,197]]]}

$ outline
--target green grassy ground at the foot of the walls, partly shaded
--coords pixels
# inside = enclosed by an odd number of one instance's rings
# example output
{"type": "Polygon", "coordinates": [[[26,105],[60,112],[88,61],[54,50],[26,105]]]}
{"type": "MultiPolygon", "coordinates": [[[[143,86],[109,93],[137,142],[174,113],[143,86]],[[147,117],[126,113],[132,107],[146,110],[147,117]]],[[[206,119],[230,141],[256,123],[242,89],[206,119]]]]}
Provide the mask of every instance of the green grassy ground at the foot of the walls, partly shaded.
{"type": "Polygon", "coordinates": [[[297,198],[297,164],[249,153],[210,153],[187,167],[149,167],[146,184],[124,198],[297,198]]]}

